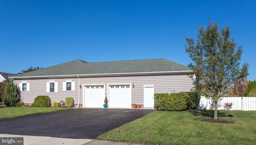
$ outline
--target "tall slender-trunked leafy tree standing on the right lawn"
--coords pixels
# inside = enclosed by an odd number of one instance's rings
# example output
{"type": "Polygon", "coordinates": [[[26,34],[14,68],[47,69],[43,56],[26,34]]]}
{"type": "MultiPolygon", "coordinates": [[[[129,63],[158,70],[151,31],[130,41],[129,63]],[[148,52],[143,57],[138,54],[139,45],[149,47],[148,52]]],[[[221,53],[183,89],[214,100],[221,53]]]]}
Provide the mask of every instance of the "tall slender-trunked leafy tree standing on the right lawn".
{"type": "Polygon", "coordinates": [[[248,63],[244,63],[241,68],[238,61],[242,55],[242,46],[236,49],[234,38],[230,38],[229,24],[218,32],[217,22],[212,24],[209,18],[207,27],[198,27],[197,38],[196,45],[194,39],[185,38],[186,52],[194,62],[188,66],[205,85],[206,96],[214,102],[214,119],[217,119],[218,100],[226,94],[230,85],[246,78],[248,63]]]}

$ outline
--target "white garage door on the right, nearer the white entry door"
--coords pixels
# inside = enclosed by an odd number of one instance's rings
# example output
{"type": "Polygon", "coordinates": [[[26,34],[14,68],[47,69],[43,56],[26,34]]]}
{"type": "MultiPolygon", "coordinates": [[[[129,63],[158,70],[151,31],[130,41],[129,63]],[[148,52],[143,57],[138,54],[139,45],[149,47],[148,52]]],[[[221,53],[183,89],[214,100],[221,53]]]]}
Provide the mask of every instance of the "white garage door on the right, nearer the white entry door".
{"type": "Polygon", "coordinates": [[[109,107],[130,108],[132,102],[132,89],[130,85],[109,86],[109,107]]]}

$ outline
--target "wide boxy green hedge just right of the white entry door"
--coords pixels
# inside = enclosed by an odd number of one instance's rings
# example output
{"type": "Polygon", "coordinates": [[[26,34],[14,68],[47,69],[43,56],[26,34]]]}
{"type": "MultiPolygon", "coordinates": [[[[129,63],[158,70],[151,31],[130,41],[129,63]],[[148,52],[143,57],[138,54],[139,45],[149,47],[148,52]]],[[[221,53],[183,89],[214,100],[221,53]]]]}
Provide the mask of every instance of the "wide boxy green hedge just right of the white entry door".
{"type": "Polygon", "coordinates": [[[158,110],[182,111],[187,109],[188,93],[156,93],[154,97],[154,104],[158,110]]]}

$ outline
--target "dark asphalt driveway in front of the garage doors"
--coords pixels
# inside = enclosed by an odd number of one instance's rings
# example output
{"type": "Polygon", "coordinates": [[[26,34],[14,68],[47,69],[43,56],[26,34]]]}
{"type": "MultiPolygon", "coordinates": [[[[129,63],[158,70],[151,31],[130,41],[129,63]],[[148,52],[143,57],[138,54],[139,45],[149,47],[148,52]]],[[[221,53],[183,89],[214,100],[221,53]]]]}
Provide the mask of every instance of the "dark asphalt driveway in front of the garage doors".
{"type": "MultiPolygon", "coordinates": [[[[78,108],[0,121],[0,134],[95,139],[154,109],[78,108]]],[[[4,113],[4,112],[2,112],[4,113]]]]}

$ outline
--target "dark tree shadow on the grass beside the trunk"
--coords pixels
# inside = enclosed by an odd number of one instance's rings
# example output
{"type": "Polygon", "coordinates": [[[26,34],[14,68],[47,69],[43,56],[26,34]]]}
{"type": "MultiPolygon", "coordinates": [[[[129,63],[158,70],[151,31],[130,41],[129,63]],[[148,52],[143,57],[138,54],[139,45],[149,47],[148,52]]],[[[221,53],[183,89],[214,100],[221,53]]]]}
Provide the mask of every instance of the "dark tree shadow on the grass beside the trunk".
{"type": "MultiPolygon", "coordinates": [[[[190,111],[190,113],[194,116],[203,116],[203,117],[214,117],[214,110],[196,110],[196,111],[190,111]]],[[[218,111],[218,117],[234,117],[230,113],[226,112],[220,112],[218,111]]]]}

